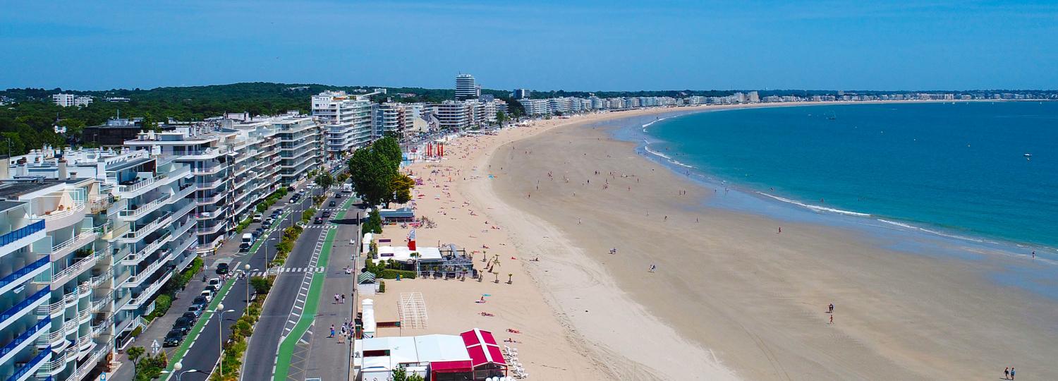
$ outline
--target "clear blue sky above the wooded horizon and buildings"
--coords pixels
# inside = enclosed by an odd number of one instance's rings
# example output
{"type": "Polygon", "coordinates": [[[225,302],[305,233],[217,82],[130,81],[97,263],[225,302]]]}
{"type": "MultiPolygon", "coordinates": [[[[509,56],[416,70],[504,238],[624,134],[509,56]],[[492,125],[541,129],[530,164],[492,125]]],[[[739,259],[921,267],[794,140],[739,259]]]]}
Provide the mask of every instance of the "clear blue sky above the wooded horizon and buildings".
{"type": "Polygon", "coordinates": [[[0,88],[1055,89],[1058,2],[0,1],[0,88]]]}

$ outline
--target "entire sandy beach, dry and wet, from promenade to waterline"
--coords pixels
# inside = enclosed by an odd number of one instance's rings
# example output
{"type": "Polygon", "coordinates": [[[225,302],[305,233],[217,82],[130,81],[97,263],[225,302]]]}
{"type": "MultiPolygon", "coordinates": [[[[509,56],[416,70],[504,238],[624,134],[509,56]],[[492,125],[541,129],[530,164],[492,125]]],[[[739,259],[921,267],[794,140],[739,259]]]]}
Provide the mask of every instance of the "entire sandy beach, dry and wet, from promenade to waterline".
{"type": "Polygon", "coordinates": [[[583,127],[672,111],[541,121],[412,165],[425,180],[417,213],[438,224],[419,244],[498,254],[500,282],[387,282],[378,319],[396,320],[400,292],[422,292],[430,326],[400,333],[490,329],[544,380],[965,380],[1011,365],[1058,377],[1053,301],[983,275],[1018,259],[904,253],[852,230],[709,208],[724,189],[583,127]]]}

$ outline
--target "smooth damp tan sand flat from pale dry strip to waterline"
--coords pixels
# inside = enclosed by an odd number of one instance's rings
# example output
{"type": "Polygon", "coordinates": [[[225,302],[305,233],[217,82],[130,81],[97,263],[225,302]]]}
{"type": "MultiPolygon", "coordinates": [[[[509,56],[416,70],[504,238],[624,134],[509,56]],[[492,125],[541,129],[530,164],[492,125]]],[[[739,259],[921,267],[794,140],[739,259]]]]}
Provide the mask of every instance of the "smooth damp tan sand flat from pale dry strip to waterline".
{"type": "MultiPolygon", "coordinates": [[[[696,111],[657,111],[687,112],[696,111]]],[[[548,234],[562,236],[543,236],[537,224],[512,233],[521,248],[567,240],[571,244],[563,249],[573,252],[548,252],[542,258],[584,256],[590,261],[580,266],[594,267],[645,310],[625,311],[635,307],[618,304],[624,309],[607,311],[601,304],[601,310],[579,316],[571,313],[580,308],[573,305],[587,303],[591,292],[573,296],[576,290],[552,289],[558,275],[534,270],[560,313],[570,314],[572,327],[600,350],[654,371],[697,361],[683,365],[694,371],[677,373],[695,379],[731,376],[727,368],[745,379],[957,379],[1015,361],[1019,368],[1054,376],[1044,365],[1055,355],[1048,322],[1056,312],[1053,301],[987,282],[990,273],[1021,266],[1011,262],[1019,258],[978,251],[968,261],[946,253],[960,248],[923,241],[913,232],[879,235],[815,217],[791,221],[717,207],[723,205],[717,200],[731,194],[714,193],[708,180],[656,170],[663,159],[644,160],[638,143],[612,135],[627,139],[619,131],[641,128],[655,117],[546,130],[497,147],[490,161],[496,174],[490,194],[554,228],[548,234]],[[612,171],[615,176],[606,176],[612,171]],[[610,248],[618,254],[608,254],[610,248]],[[651,264],[659,267],[657,273],[646,272],[651,264]],[[838,306],[834,325],[823,313],[828,303],[838,306]],[[638,322],[599,316],[622,312],[650,316],[638,322]],[[651,324],[650,318],[700,351],[642,353],[626,337],[654,332],[635,325],[651,324]],[[607,321],[628,325],[610,329],[607,321]],[[713,373],[704,373],[703,363],[713,373]],[[712,376],[698,377],[707,374],[712,376]]],[[[790,207],[772,205],[780,206],[790,207]]]]}

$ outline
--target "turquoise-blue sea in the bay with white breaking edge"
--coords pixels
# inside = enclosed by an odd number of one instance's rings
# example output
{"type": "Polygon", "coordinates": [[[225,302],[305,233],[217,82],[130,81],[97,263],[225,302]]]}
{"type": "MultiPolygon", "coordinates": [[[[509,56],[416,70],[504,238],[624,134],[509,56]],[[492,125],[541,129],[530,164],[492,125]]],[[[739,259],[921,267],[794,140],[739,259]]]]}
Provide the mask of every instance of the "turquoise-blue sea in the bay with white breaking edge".
{"type": "Polygon", "coordinates": [[[641,125],[651,152],[760,199],[1058,248],[1058,103],[733,109],[641,125]]]}

